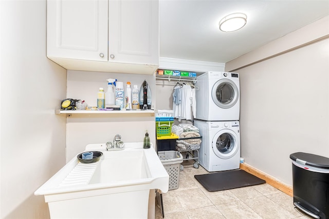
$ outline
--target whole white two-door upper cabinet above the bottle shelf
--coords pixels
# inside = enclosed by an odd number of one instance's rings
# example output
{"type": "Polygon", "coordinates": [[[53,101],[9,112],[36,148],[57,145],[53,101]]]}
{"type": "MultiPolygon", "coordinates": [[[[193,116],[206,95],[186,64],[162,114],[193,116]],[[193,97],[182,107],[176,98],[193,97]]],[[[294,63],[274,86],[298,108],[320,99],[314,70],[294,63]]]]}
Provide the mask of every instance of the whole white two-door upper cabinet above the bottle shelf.
{"type": "Polygon", "coordinates": [[[159,3],[48,0],[47,57],[69,70],[153,74],[159,3]]]}

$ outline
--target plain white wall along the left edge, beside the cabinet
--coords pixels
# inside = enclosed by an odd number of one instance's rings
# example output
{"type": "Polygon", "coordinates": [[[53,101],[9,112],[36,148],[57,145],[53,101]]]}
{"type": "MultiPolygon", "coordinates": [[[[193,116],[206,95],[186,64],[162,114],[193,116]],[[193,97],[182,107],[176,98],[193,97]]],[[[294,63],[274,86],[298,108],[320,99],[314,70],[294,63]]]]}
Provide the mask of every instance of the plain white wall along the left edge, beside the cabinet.
{"type": "Polygon", "coordinates": [[[66,70],[46,57],[46,1],[0,1],[1,218],[48,218],[34,191],[65,165],[66,118],[54,114],[66,70]]]}

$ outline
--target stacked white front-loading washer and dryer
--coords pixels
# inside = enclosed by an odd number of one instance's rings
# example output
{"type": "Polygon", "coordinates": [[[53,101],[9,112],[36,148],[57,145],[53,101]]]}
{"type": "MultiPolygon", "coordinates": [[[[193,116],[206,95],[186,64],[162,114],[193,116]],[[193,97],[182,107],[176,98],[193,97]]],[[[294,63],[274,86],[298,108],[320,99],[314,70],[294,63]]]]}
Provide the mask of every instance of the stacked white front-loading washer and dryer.
{"type": "Polygon", "coordinates": [[[197,77],[194,126],[203,136],[199,164],[207,171],[240,168],[239,74],[206,72],[197,77]]]}

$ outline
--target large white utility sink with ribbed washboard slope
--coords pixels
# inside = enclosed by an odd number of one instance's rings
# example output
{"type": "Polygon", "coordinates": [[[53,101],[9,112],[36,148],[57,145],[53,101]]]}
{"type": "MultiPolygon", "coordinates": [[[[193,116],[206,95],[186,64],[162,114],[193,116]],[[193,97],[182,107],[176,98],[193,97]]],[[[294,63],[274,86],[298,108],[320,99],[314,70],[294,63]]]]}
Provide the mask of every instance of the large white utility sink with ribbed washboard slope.
{"type": "Polygon", "coordinates": [[[150,190],[168,191],[169,175],[153,147],[125,143],[124,150],[106,151],[105,144],[90,144],[85,151],[103,156],[90,164],[75,156],[35,191],[44,195],[50,217],[147,218],[150,190]]]}

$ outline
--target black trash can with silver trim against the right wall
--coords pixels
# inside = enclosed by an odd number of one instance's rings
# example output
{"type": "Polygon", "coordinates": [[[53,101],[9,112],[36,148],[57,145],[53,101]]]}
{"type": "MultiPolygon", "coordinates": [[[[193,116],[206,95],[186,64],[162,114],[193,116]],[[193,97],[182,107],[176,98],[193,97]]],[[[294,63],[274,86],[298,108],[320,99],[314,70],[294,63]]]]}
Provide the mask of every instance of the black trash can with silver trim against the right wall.
{"type": "Polygon", "coordinates": [[[329,158],[297,152],[290,159],[294,205],[315,218],[329,218],[329,158]]]}

